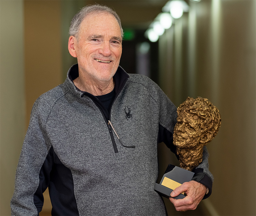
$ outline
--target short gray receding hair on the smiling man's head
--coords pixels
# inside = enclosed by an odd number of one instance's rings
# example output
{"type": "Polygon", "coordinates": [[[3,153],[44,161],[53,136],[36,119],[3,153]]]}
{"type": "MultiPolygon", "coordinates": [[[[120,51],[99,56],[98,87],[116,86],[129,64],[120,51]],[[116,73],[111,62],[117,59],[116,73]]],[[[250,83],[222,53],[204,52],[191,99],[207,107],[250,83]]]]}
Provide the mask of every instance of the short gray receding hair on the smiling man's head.
{"type": "Polygon", "coordinates": [[[87,6],[83,7],[82,9],[80,9],[80,11],[78,11],[77,14],[75,14],[75,16],[73,17],[73,19],[71,20],[71,23],[70,23],[69,36],[78,37],[80,25],[81,25],[81,22],[83,21],[83,19],[88,14],[100,13],[100,12],[112,14],[116,18],[116,20],[120,26],[121,36],[123,38],[123,28],[121,25],[120,17],[117,15],[117,13],[113,9],[111,9],[107,6],[100,5],[100,4],[87,5],[87,6]]]}

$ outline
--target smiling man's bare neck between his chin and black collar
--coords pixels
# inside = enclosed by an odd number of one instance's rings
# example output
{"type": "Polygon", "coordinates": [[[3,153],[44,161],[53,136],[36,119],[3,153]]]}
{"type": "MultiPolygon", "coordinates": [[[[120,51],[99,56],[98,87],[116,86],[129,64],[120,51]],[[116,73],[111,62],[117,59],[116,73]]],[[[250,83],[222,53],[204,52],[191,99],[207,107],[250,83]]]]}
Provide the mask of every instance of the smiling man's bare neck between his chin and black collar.
{"type": "Polygon", "coordinates": [[[81,91],[86,91],[94,96],[108,94],[115,87],[113,78],[108,81],[99,81],[79,76],[73,82],[81,91]]]}

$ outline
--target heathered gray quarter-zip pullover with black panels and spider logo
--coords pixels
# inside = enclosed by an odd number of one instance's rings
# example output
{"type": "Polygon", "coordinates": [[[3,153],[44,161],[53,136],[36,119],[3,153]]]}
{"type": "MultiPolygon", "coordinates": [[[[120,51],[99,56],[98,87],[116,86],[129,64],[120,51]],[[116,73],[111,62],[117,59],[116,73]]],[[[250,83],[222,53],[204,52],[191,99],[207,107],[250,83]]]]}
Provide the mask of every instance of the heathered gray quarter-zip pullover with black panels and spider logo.
{"type": "MultiPolygon", "coordinates": [[[[163,200],[154,191],[157,143],[160,127],[171,137],[176,107],[152,80],[119,67],[107,119],[96,97],[76,89],[73,74],[78,74],[77,65],[63,84],[33,106],[17,166],[12,215],[38,215],[47,186],[54,215],[165,215],[163,200]],[[135,148],[123,146],[107,120],[123,145],[135,148]]],[[[172,143],[167,146],[175,152],[172,143]]],[[[211,187],[207,159],[205,149],[195,180],[208,180],[211,187]]]]}

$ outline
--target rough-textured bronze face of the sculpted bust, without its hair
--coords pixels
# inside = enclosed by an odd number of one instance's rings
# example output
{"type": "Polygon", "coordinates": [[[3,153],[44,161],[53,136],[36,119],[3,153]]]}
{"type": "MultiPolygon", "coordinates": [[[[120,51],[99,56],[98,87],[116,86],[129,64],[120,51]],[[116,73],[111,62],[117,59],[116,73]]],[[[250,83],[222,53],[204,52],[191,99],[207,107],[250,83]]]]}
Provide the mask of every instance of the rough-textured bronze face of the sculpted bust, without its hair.
{"type": "Polygon", "coordinates": [[[173,144],[180,148],[193,148],[199,145],[204,132],[200,129],[202,120],[198,115],[179,109],[177,123],[174,127],[173,144]]]}

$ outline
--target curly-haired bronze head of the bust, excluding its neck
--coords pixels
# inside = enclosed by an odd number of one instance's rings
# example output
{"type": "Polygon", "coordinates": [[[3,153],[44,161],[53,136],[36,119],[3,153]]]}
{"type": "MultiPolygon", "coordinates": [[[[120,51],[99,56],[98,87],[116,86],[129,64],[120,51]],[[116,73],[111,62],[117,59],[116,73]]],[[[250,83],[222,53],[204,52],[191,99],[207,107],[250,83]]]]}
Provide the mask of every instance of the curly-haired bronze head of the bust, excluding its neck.
{"type": "Polygon", "coordinates": [[[179,148],[205,146],[218,133],[220,114],[208,99],[188,97],[177,109],[173,143],[179,148]]]}

